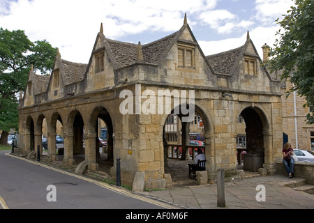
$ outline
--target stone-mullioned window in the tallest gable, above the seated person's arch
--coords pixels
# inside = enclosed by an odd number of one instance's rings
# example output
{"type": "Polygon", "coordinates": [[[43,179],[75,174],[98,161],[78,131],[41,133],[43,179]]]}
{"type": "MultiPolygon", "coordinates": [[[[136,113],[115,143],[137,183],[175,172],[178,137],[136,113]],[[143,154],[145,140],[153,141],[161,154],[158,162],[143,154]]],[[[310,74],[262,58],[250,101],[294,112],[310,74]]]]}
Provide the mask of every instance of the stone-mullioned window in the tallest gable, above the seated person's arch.
{"type": "Polygon", "coordinates": [[[178,45],[178,66],[195,68],[195,47],[178,45]]]}

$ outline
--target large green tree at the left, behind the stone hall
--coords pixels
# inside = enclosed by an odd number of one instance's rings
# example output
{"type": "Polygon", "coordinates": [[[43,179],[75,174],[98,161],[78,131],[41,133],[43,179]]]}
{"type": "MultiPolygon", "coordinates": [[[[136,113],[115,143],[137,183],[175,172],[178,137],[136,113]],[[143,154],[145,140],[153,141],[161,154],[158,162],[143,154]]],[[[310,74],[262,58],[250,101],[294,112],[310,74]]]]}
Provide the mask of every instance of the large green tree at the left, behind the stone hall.
{"type": "Polygon", "coordinates": [[[47,75],[56,54],[46,40],[32,43],[22,30],[0,28],[0,144],[7,143],[10,128],[18,127],[17,95],[26,88],[31,65],[47,75]]]}

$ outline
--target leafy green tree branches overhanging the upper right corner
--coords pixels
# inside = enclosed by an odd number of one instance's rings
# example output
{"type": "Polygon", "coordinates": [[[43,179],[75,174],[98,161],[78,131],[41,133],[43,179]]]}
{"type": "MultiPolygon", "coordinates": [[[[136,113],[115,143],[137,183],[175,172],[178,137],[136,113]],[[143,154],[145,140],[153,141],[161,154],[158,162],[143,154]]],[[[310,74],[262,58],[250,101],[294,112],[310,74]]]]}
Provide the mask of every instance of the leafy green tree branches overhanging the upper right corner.
{"type": "Polygon", "coordinates": [[[296,91],[306,98],[308,124],[314,124],[314,0],[294,0],[295,6],[278,22],[280,36],[269,53],[272,71],[282,70],[281,79],[290,80],[296,91]]]}

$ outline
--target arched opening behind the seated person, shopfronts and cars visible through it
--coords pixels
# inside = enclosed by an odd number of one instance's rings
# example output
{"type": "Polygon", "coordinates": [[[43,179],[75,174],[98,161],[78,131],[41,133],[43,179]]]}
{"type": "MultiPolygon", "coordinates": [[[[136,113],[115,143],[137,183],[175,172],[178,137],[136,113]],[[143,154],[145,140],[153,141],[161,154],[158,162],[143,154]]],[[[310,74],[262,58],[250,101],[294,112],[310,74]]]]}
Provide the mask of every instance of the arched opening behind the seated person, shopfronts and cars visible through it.
{"type": "MultiPolygon", "coordinates": [[[[181,109],[180,109],[181,110],[181,109]]],[[[197,149],[210,154],[209,121],[200,107],[195,106],[195,114],[190,121],[183,121],[183,114],[169,114],[163,126],[164,169],[170,174],[172,185],[196,185],[195,176],[188,176],[188,164],[193,164],[197,149]],[[207,152],[208,150],[208,152],[207,152]]],[[[209,156],[208,156],[209,157],[209,156]]],[[[210,157],[207,159],[209,170],[210,157]]]]}

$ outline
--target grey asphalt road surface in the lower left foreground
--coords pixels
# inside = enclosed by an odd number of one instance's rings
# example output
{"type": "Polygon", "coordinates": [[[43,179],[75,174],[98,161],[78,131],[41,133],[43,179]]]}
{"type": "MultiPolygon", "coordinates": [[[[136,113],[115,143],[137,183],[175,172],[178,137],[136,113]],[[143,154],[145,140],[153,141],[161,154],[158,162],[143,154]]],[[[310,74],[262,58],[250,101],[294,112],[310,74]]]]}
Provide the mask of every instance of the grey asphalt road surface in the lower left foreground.
{"type": "Polygon", "coordinates": [[[160,209],[172,206],[0,151],[0,209],[160,209]]]}

